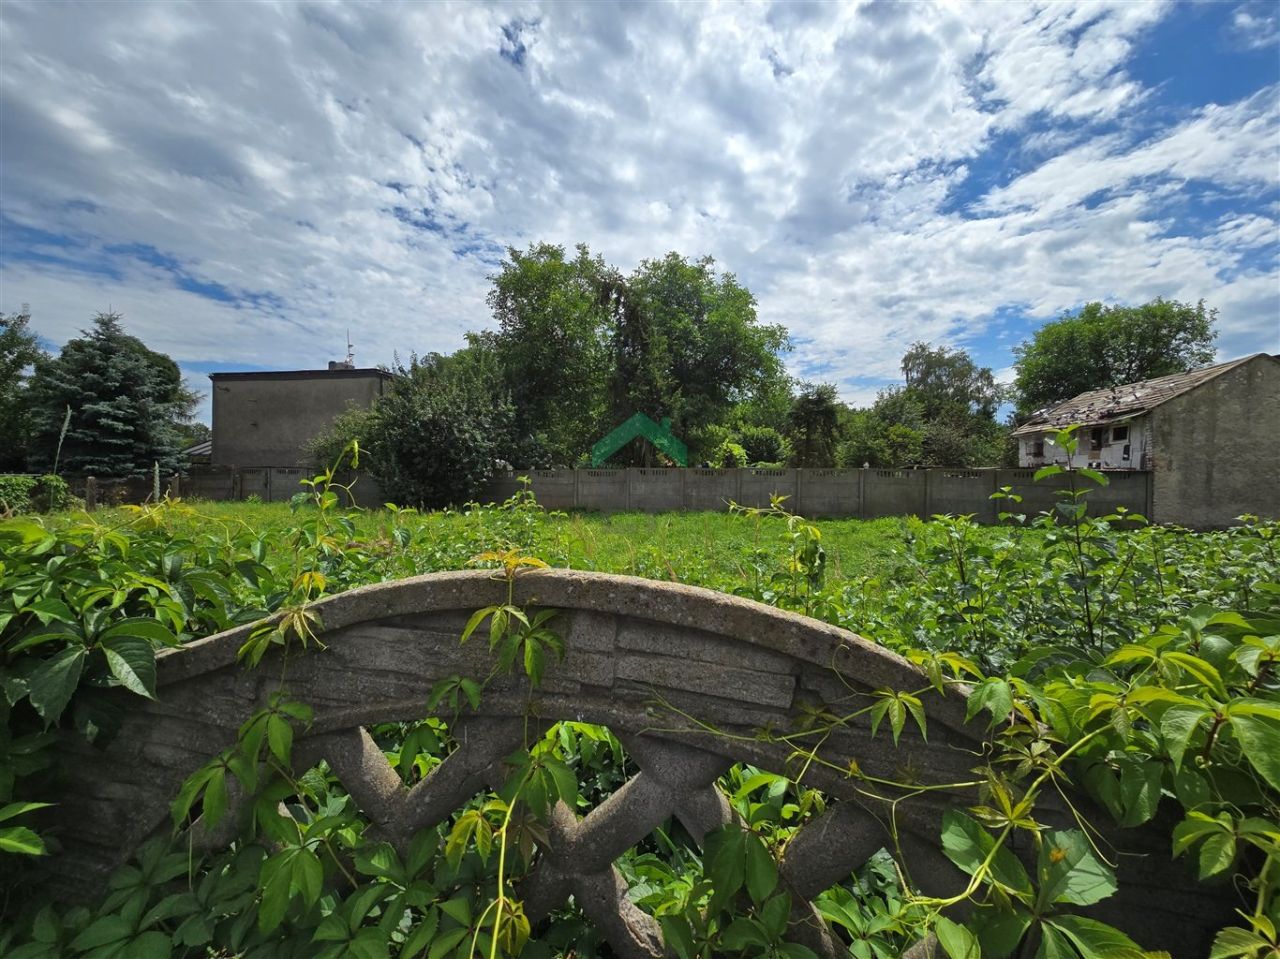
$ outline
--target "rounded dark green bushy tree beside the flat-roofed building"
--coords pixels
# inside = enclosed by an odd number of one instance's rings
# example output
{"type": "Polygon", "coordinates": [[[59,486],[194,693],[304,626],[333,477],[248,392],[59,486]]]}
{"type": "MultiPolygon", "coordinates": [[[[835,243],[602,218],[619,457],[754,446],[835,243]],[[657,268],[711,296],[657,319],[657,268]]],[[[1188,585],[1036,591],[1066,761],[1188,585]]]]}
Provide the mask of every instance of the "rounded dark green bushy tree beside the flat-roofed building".
{"type": "MultiPolygon", "coordinates": [[[[413,357],[399,366],[364,423],[369,470],[403,506],[466,503],[509,456],[516,417],[502,384],[452,360],[413,357]]],[[[362,419],[352,414],[351,423],[362,419]]]]}

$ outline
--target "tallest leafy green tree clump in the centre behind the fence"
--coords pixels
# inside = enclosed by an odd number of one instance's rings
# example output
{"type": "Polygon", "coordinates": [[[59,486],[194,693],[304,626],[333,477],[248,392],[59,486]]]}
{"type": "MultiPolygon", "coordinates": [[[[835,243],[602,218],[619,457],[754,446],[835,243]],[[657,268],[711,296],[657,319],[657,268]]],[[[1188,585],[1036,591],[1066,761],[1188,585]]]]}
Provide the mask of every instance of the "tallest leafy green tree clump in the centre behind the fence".
{"type": "MultiPolygon", "coordinates": [[[[755,298],[710,257],[644,260],[630,275],[579,246],[511,248],[490,278],[495,333],[472,334],[468,351],[492,353],[515,406],[516,465],[576,462],[609,429],[643,412],[669,417],[695,460],[709,426],[746,405],[762,410],[786,392],[781,326],[760,324],[755,298]]],[[[463,351],[466,352],[466,351],[463,351]]],[[[643,442],[621,462],[653,463],[643,442]]]]}

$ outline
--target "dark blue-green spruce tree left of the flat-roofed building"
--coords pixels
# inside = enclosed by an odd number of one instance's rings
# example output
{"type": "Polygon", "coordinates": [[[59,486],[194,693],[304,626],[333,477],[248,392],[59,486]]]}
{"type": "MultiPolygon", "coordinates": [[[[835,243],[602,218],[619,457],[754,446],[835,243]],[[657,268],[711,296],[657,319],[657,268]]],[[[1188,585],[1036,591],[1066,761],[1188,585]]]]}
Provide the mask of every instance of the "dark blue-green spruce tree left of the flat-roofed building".
{"type": "Polygon", "coordinates": [[[170,357],[100,312],[56,357],[41,357],[28,387],[31,460],[41,470],[123,479],[182,469],[179,423],[197,396],[170,357]],[[70,410],[65,438],[61,437],[70,410]],[[60,447],[60,452],[59,452],[60,447]]]}

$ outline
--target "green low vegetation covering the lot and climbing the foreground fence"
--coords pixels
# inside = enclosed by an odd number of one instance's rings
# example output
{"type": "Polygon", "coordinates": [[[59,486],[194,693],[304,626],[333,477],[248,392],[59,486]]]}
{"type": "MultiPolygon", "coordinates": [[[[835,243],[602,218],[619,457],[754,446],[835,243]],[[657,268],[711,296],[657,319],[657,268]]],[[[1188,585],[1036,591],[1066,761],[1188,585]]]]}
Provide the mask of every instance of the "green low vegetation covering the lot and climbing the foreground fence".
{"type": "MultiPolygon", "coordinates": [[[[1073,440],[1069,431],[1059,438],[1073,440]]],[[[58,755],[46,720],[59,709],[61,725],[100,735],[109,726],[102,704],[111,698],[104,686],[134,695],[154,690],[143,649],[154,654],[265,613],[274,617],[255,631],[265,648],[310,643],[307,629],[320,624],[305,615],[323,594],[457,568],[471,557],[495,566],[508,583],[506,602],[476,611],[460,636],[489,647],[489,675],[452,677],[431,697],[434,714],[424,704],[420,717],[370,730],[407,784],[451,753],[453,717],[483,704],[492,677],[518,670],[536,682],[549,670],[564,641],[554,611],[517,604],[509,584],[539,563],[535,553],[567,557],[567,533],[585,536],[573,525],[579,517],[545,515],[527,493],[461,513],[361,517],[339,510],[334,472],[310,480],[288,524],[275,528],[219,522],[180,503],[97,521],[0,525],[9,703],[3,768],[15,771],[13,791],[0,794],[0,849],[12,854],[4,869],[10,890],[27,874],[17,860],[38,855],[45,842],[49,768],[38,764],[58,755]],[[81,681],[68,690],[73,661],[81,681]],[[15,763],[19,757],[26,766],[15,763]]],[[[873,635],[924,673],[919,689],[881,689],[844,714],[836,705],[795,730],[760,730],[794,745],[797,768],[781,771],[790,777],[731,770],[719,787],[739,825],[699,848],[667,823],[620,858],[636,905],[658,919],[676,955],[809,956],[787,941],[791,903],[777,868],[795,830],[826,808],[826,798],[803,785],[803,767],[838,763],[868,798],[881,794],[893,784],[873,781],[847,757],[824,750],[824,732],[859,726],[886,744],[928,735],[931,698],[961,686],[972,725],[987,729],[988,750],[975,754],[970,781],[950,784],[956,802],[938,846],[969,886],[946,900],[919,894],[899,871],[891,841],[815,901],[850,955],[899,956],[927,933],[954,958],[978,949],[997,958],[1143,955],[1079,912],[1114,895],[1117,878],[1114,850],[1094,828],[1102,823],[1042,816],[1041,800],[1068,780],[1120,827],[1166,828],[1170,855],[1190,858],[1208,882],[1235,880],[1242,919],[1222,931],[1215,955],[1275,950],[1280,525],[1251,521],[1192,534],[1148,528],[1129,515],[1093,516],[1087,490],[1101,475],[1065,472],[1068,496],[1047,516],[1019,515],[1019,501],[1006,492],[1001,528],[966,517],[911,522],[900,563],[882,565],[876,576],[837,572],[828,547],[840,526],[794,516],[782,501],[726,520],[745,535],[735,540],[739,570],[664,556],[677,552],[663,531],[671,521],[645,517],[667,525],[649,528],[657,531],[649,535],[653,557],[634,552],[627,571],[667,576],[672,567],[662,563],[680,562],[691,581],[873,635]],[[969,917],[948,918],[961,900],[969,917]]],[[[259,510],[269,515],[269,507],[259,510]]],[[[599,566],[599,552],[576,549],[579,562],[599,566]]],[[[246,663],[256,649],[244,650],[246,663]]],[[[178,796],[175,822],[186,825],[200,814],[220,818],[232,782],[256,791],[252,830],[234,845],[204,858],[182,839],[150,845],[92,909],[58,910],[38,898],[17,909],[13,899],[0,951],[19,959],[113,950],[600,954],[575,908],[531,926],[518,880],[532,867],[553,803],[594,807],[634,772],[608,730],[562,722],[531,734],[508,759],[500,787],[393,849],[325,766],[293,768],[292,744],[308,718],[306,704],[278,690],[246,717],[236,746],[178,796]]]]}

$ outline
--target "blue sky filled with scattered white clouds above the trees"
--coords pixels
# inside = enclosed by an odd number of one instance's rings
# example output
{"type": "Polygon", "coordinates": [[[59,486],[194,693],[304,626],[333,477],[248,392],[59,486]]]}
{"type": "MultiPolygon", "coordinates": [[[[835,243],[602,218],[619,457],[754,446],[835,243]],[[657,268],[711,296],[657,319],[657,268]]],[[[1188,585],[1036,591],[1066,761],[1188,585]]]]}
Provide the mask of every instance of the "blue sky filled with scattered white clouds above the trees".
{"type": "Polygon", "coordinates": [[[1272,3],[0,5],[0,310],[448,352],[508,246],[709,254],[854,401],[1089,300],[1280,351],[1272,3]]]}

